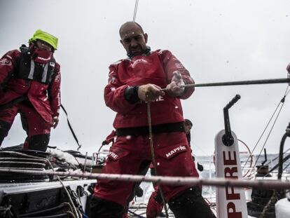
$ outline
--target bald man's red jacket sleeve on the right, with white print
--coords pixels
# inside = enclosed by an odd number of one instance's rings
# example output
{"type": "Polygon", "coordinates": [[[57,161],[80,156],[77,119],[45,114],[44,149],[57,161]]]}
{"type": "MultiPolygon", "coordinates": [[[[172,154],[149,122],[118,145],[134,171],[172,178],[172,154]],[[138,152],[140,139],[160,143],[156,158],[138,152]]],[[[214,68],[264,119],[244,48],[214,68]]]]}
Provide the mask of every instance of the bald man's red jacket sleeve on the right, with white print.
{"type": "MultiPolygon", "coordinates": [[[[171,82],[173,72],[179,71],[185,84],[194,84],[194,81],[191,78],[188,70],[184,67],[184,65],[181,64],[177,57],[174,57],[174,55],[172,55],[169,50],[163,50],[160,57],[163,62],[163,68],[165,69],[165,73],[167,74],[167,83],[171,82]]],[[[193,94],[193,91],[194,87],[185,88],[184,94],[181,95],[179,98],[186,99],[193,94]]]]}

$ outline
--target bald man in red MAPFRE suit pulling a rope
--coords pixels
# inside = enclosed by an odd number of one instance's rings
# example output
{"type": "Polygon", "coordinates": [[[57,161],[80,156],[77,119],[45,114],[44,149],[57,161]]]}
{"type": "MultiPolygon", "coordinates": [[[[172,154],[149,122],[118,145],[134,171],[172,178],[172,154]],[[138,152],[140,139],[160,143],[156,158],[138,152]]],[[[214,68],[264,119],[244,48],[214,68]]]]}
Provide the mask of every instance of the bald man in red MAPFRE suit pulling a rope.
{"type": "MultiPolygon", "coordinates": [[[[196,169],[184,130],[181,99],[193,93],[193,79],[169,50],[151,51],[148,36],[136,22],[120,27],[120,43],[127,58],[111,64],[104,88],[106,106],[116,111],[116,141],[102,172],[138,175],[151,163],[147,102],[151,123],[156,172],[163,176],[193,177],[196,169]],[[166,91],[161,90],[166,88],[166,91]]],[[[122,217],[134,183],[98,179],[91,203],[92,217],[122,217]]],[[[197,187],[161,185],[165,200],[176,217],[211,217],[197,187]]]]}

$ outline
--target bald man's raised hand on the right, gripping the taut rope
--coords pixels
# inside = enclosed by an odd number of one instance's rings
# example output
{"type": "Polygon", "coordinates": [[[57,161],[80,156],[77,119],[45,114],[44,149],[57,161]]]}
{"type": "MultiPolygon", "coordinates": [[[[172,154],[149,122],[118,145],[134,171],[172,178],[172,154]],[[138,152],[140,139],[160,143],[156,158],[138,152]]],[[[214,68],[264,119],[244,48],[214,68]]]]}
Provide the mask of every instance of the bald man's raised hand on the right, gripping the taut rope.
{"type": "Polygon", "coordinates": [[[174,71],[171,79],[171,83],[167,85],[166,92],[168,95],[172,97],[178,97],[184,94],[184,88],[180,88],[179,86],[185,85],[183,79],[181,78],[181,74],[179,71],[174,71]]]}

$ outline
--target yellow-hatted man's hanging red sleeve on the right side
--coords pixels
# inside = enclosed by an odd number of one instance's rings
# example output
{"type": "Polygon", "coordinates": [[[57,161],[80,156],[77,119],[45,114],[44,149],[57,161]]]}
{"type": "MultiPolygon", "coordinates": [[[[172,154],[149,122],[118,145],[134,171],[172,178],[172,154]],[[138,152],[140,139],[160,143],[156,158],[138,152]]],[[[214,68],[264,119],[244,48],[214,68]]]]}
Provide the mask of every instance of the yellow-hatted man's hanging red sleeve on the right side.
{"type": "Polygon", "coordinates": [[[53,117],[60,115],[60,64],[56,64],[55,79],[51,81],[48,87],[48,100],[50,102],[50,109],[53,111],[53,117]]]}

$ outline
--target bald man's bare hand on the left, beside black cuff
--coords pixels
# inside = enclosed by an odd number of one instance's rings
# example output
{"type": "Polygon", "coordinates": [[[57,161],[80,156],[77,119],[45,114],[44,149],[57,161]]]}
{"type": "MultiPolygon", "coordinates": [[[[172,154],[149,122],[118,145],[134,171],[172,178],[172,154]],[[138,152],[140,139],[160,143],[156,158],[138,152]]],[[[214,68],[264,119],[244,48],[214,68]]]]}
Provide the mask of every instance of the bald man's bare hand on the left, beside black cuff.
{"type": "Polygon", "coordinates": [[[138,88],[138,97],[143,102],[154,102],[160,95],[165,95],[164,91],[159,86],[151,83],[138,88]]]}

